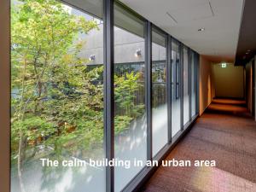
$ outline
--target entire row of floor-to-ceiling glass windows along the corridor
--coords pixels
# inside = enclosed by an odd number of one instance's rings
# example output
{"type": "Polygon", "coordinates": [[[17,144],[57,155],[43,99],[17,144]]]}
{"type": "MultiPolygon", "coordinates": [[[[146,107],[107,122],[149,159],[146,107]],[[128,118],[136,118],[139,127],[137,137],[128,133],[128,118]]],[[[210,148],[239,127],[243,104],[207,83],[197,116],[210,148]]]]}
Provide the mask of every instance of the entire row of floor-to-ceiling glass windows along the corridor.
{"type": "Polygon", "coordinates": [[[149,32],[146,20],[121,3],[114,3],[111,20],[102,10],[112,1],[65,2],[76,8],[55,0],[12,2],[11,191],[121,191],[150,168],[146,160],[172,145],[168,134],[172,130],[172,137],[177,136],[181,118],[188,124],[189,114],[195,115],[196,53],[183,46],[180,55],[180,42],[167,44],[171,37],[166,32],[148,22],[149,32]],[[167,84],[172,84],[172,103],[167,84]],[[146,105],[150,91],[152,101],[146,105]],[[124,164],[107,169],[90,165],[106,154],[124,164]],[[40,159],[83,160],[84,165],[42,166],[40,159]],[[134,160],[143,164],[134,166],[134,160]]]}

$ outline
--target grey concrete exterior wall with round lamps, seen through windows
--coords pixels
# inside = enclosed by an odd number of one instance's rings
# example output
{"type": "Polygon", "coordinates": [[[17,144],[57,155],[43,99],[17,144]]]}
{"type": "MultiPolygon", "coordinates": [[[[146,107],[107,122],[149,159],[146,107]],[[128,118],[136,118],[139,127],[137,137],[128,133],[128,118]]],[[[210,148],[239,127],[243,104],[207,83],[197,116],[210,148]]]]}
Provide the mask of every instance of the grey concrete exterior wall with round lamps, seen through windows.
{"type": "MultiPolygon", "coordinates": [[[[88,34],[80,35],[79,39],[84,41],[84,46],[80,53],[83,58],[95,55],[94,61],[88,64],[96,65],[103,63],[103,25],[98,25],[98,30],[91,30],[88,34]]],[[[153,44],[153,61],[166,60],[166,49],[158,44],[153,44]]],[[[114,27],[114,62],[142,62],[145,61],[145,41],[131,32],[114,27]],[[142,55],[135,56],[137,49],[141,49],[142,55]]]]}

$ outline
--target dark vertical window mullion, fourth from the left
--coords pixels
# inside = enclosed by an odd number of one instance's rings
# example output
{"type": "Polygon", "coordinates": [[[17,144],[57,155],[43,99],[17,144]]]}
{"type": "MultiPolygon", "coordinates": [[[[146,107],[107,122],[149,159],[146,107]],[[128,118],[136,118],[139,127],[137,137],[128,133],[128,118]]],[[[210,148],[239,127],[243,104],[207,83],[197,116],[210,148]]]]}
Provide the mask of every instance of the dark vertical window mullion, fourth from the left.
{"type": "Polygon", "coordinates": [[[183,131],[183,44],[180,44],[180,125],[181,131],[183,131]]]}

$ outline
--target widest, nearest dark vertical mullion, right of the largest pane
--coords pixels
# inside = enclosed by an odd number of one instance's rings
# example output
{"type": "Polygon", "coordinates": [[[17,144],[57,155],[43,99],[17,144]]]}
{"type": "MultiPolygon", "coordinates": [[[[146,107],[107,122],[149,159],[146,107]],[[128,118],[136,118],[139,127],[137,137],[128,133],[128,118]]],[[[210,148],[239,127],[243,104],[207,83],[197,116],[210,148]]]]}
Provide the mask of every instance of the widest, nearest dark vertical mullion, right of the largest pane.
{"type": "MultiPolygon", "coordinates": [[[[113,0],[104,0],[104,147],[106,159],[114,158],[113,105],[113,0]]],[[[114,190],[113,166],[106,166],[106,191],[114,190]]]]}

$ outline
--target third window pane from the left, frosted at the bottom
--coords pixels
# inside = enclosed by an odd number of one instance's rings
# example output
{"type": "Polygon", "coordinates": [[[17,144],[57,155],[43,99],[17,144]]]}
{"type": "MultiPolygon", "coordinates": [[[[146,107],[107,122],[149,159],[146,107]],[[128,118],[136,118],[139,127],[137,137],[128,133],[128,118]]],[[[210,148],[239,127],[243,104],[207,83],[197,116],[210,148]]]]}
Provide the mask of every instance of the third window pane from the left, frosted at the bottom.
{"type": "Polygon", "coordinates": [[[168,141],[166,101],[166,35],[152,28],[152,142],[153,156],[168,141]]]}

